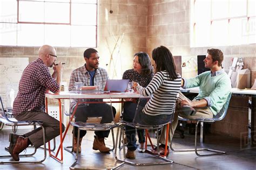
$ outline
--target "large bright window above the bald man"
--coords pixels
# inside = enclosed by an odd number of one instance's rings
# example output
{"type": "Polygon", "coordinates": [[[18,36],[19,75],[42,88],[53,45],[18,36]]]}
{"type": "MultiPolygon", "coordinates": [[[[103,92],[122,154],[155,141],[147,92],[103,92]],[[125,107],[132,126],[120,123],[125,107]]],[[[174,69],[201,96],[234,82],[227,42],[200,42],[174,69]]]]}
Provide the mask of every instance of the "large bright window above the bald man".
{"type": "Polygon", "coordinates": [[[97,46],[97,0],[0,0],[0,45],[97,46]]]}

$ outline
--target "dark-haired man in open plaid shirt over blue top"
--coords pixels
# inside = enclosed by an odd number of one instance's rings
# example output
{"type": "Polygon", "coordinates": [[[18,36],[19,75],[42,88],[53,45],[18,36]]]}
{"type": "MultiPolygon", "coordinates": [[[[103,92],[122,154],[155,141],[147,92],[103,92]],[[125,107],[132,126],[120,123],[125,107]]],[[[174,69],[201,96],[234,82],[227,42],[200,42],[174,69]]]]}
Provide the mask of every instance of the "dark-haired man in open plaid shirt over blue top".
{"type": "MultiPolygon", "coordinates": [[[[106,80],[109,79],[107,72],[104,68],[99,68],[99,55],[96,49],[88,48],[84,52],[85,64],[72,71],[69,82],[69,90],[76,90],[75,82],[83,82],[84,86],[98,86],[102,84],[103,90],[106,84],[106,80]]],[[[75,104],[72,105],[72,109],[75,104]]],[[[92,104],[80,104],[77,107],[75,114],[76,122],[86,122],[87,117],[102,117],[101,123],[109,123],[113,121],[113,117],[116,114],[116,109],[110,107],[106,103],[92,103],[92,104]],[[108,116],[109,115],[109,116],[108,116]]],[[[75,140],[73,143],[73,152],[77,151],[77,136],[78,129],[75,127],[75,140]]],[[[104,139],[109,136],[110,131],[95,131],[95,139],[93,141],[93,150],[99,150],[103,153],[110,152],[110,148],[105,146],[104,139]]],[[[80,131],[78,152],[81,152],[82,138],[85,136],[86,131],[80,131]]]]}

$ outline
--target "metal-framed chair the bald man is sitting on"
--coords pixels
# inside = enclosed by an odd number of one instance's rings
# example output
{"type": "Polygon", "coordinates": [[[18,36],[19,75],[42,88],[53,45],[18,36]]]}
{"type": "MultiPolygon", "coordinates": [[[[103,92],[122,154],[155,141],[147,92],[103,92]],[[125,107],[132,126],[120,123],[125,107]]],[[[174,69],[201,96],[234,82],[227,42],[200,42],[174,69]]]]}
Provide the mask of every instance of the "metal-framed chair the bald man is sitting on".
{"type": "MultiPolygon", "coordinates": [[[[0,96],[1,106],[0,106],[0,122],[7,126],[41,126],[43,130],[43,140],[44,140],[44,158],[38,161],[0,161],[0,164],[21,164],[21,163],[41,163],[46,158],[46,145],[45,145],[45,130],[42,122],[39,121],[17,121],[15,118],[8,118],[7,113],[4,111],[4,106],[2,102],[2,97],[0,96]]],[[[20,154],[19,157],[31,157],[36,153],[36,149],[31,154],[20,154]]],[[[12,158],[11,155],[0,155],[0,159],[12,158]]]]}

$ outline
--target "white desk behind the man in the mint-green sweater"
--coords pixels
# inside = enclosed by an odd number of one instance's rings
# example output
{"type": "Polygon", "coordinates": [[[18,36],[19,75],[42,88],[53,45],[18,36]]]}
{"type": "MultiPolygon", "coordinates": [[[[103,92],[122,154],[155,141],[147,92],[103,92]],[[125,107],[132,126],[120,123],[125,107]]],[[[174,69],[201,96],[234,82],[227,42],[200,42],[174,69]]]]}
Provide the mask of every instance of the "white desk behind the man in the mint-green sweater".
{"type": "MultiPolygon", "coordinates": [[[[199,93],[199,87],[196,88],[187,88],[187,89],[180,89],[182,93],[199,93]]],[[[240,90],[238,88],[231,89],[232,96],[244,96],[248,97],[248,145],[255,145],[256,138],[254,137],[254,107],[255,104],[253,103],[252,97],[256,97],[256,90],[246,89],[240,90]],[[253,115],[253,124],[252,124],[252,115],[253,115]]],[[[242,140],[242,139],[241,139],[242,140]]]]}

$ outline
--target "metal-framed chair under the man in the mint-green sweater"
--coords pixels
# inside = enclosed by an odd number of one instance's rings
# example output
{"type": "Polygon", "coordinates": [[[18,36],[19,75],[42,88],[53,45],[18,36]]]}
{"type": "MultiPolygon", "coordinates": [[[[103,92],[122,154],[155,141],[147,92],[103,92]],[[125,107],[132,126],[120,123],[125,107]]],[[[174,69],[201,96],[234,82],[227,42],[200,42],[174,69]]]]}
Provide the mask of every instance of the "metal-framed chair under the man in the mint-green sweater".
{"type": "Polygon", "coordinates": [[[188,119],[188,118],[184,118],[184,117],[180,117],[179,116],[179,120],[181,121],[196,121],[196,133],[195,133],[195,138],[194,138],[194,149],[184,149],[184,150],[174,150],[172,147],[172,142],[171,142],[171,150],[174,152],[191,152],[194,151],[196,152],[196,154],[198,156],[209,156],[209,155],[218,155],[218,154],[226,154],[226,152],[224,151],[218,151],[218,150],[212,150],[210,148],[197,148],[197,128],[198,128],[198,124],[200,123],[201,125],[201,132],[200,132],[200,136],[201,136],[201,142],[203,142],[203,129],[204,129],[204,123],[214,123],[216,121],[221,121],[222,119],[224,119],[224,117],[227,114],[227,109],[228,109],[228,104],[230,103],[230,98],[232,96],[232,93],[230,93],[227,97],[226,103],[223,105],[223,108],[221,108],[221,110],[219,111],[219,113],[217,115],[215,115],[213,118],[193,118],[193,119],[188,119]],[[208,154],[199,154],[198,151],[209,151],[209,152],[213,152],[213,153],[208,153],[208,154]]]}

